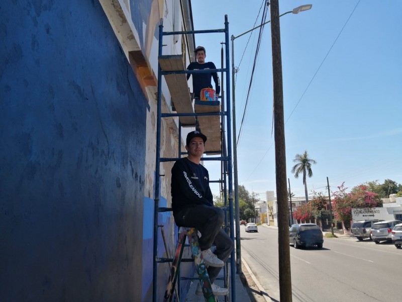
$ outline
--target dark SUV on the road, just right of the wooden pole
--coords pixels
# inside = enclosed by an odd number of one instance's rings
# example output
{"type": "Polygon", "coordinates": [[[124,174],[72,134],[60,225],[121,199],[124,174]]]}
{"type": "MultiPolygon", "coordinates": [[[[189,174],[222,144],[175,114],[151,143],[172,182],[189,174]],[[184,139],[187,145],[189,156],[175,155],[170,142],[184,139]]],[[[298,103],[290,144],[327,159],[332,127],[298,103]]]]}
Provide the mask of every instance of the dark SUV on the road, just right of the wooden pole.
{"type": "Polygon", "coordinates": [[[315,223],[292,224],[289,228],[289,243],[295,249],[312,246],[321,249],[324,243],[323,232],[315,223]]]}

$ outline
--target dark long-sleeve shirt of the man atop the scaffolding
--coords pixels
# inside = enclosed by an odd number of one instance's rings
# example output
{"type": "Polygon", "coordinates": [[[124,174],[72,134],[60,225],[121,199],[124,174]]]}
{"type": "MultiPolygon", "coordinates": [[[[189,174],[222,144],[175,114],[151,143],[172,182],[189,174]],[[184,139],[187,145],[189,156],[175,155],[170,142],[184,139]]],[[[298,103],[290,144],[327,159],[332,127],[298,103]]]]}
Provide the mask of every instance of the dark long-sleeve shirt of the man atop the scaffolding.
{"type": "MultiPolygon", "coordinates": [[[[213,62],[206,62],[204,64],[199,64],[198,62],[191,62],[187,70],[200,70],[200,69],[217,69],[213,62]]],[[[187,73],[187,80],[192,75],[192,92],[194,93],[194,98],[199,98],[199,93],[204,88],[213,88],[211,85],[211,77],[215,82],[215,93],[221,93],[221,82],[218,77],[217,72],[206,72],[206,73],[187,73]]]]}

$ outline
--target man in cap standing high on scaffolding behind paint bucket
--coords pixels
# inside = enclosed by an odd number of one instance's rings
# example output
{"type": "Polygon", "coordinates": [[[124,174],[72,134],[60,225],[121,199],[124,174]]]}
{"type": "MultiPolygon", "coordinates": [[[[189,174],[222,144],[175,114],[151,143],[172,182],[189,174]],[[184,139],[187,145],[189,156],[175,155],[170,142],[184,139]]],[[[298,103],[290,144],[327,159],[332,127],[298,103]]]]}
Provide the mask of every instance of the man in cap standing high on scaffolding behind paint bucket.
{"type": "MultiPolygon", "coordinates": [[[[213,62],[206,62],[207,57],[205,48],[203,46],[197,46],[194,50],[196,62],[191,62],[187,66],[187,70],[200,70],[200,69],[217,69],[213,62]]],[[[200,73],[188,73],[187,80],[192,75],[192,92],[194,94],[194,99],[199,99],[199,93],[204,88],[212,88],[211,78],[215,82],[215,96],[218,99],[221,93],[221,82],[219,81],[217,72],[200,72],[200,73]]]]}

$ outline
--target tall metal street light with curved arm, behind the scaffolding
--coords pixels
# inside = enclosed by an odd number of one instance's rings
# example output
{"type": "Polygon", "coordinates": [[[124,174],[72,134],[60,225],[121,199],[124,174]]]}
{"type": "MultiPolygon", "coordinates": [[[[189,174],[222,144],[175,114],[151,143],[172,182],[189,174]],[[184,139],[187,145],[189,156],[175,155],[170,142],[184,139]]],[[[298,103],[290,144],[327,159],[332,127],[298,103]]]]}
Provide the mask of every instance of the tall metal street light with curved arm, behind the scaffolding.
{"type": "MultiPolygon", "coordinates": [[[[313,7],[312,4],[306,4],[299,6],[297,8],[294,8],[291,11],[288,11],[286,13],[283,13],[279,15],[279,17],[282,17],[286,14],[298,14],[299,12],[304,12],[308,11],[313,7]]],[[[237,38],[257,29],[265,24],[268,24],[271,22],[271,20],[256,26],[240,35],[231,36],[232,40],[232,123],[233,123],[233,173],[234,173],[234,185],[235,185],[235,221],[236,221],[236,255],[237,255],[237,273],[241,272],[241,251],[240,251],[240,214],[239,214],[239,189],[238,189],[238,178],[237,178],[237,133],[236,133],[236,95],[235,95],[235,51],[234,51],[234,42],[237,38]]]]}

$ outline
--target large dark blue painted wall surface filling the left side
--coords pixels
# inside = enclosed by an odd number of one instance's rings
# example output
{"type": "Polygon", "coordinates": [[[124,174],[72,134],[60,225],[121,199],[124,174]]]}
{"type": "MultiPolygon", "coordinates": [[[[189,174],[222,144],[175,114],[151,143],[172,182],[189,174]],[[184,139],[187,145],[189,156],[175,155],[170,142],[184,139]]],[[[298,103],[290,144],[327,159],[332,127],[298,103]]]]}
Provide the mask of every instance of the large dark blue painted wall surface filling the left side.
{"type": "Polygon", "coordinates": [[[2,2],[0,41],[0,300],[140,300],[148,107],[102,7],[2,2]]]}

